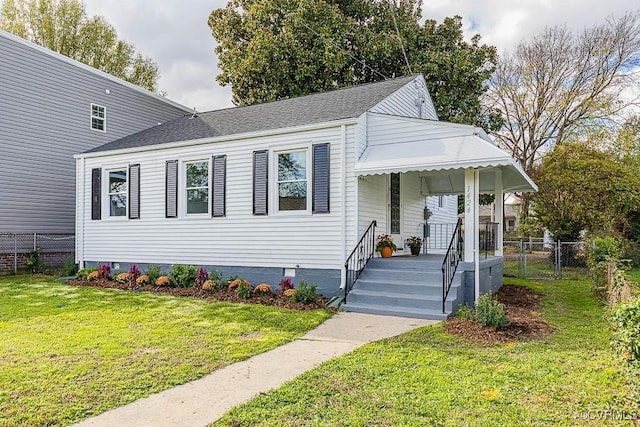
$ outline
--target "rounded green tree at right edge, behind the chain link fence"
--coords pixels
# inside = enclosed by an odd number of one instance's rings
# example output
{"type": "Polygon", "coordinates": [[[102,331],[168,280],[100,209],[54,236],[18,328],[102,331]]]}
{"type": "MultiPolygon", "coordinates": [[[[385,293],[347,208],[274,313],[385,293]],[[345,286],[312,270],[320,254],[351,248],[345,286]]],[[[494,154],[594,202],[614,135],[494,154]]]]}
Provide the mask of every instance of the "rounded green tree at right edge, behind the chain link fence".
{"type": "Polygon", "coordinates": [[[616,230],[630,237],[640,212],[640,174],[630,162],[596,141],[565,141],[532,169],[539,191],[533,212],[555,239],[577,239],[582,230],[616,230]]]}

